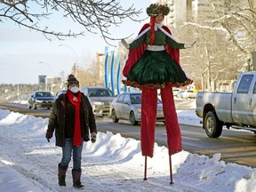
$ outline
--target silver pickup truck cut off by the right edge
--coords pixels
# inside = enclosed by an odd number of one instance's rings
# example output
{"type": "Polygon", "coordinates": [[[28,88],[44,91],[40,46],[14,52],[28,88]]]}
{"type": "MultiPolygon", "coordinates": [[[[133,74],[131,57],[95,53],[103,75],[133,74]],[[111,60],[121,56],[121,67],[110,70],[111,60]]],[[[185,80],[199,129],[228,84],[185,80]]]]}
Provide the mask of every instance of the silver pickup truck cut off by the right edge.
{"type": "Polygon", "coordinates": [[[233,93],[197,92],[196,116],[210,138],[218,138],[226,125],[256,134],[256,71],[242,73],[233,93]]]}

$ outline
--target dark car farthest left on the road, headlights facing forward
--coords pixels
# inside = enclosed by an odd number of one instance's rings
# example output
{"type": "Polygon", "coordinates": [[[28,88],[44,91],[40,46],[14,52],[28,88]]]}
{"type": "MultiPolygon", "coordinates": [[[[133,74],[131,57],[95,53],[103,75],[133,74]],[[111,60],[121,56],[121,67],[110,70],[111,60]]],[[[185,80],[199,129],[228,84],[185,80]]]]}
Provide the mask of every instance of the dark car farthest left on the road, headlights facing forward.
{"type": "Polygon", "coordinates": [[[52,108],[53,95],[51,92],[32,92],[28,99],[28,108],[52,108]]]}

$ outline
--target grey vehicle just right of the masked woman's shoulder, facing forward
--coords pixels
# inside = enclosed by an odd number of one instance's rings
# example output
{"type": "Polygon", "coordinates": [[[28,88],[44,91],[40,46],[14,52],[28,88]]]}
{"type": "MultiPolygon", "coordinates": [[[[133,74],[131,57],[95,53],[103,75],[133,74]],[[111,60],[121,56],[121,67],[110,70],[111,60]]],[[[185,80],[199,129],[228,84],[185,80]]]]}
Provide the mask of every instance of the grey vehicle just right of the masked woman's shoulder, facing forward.
{"type": "Polygon", "coordinates": [[[108,116],[110,103],[115,100],[114,93],[106,87],[83,87],[81,92],[88,97],[95,116],[108,116]]]}

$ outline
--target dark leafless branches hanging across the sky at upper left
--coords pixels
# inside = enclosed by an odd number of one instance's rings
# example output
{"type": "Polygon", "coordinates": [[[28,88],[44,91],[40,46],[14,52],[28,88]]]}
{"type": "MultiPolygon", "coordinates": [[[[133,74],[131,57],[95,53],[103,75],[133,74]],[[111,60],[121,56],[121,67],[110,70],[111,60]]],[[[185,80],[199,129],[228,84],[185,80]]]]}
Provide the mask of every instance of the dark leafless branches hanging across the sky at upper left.
{"type": "Polygon", "coordinates": [[[120,25],[127,18],[140,21],[135,18],[141,13],[141,9],[136,10],[133,4],[123,8],[117,0],[0,0],[0,5],[1,22],[4,19],[12,20],[21,27],[44,33],[48,39],[51,39],[50,36],[63,39],[66,36],[84,35],[84,31],[76,33],[69,30],[67,33],[41,25],[42,20],[51,19],[52,14],[63,12],[63,17],[79,23],[85,31],[100,33],[107,43],[115,39],[108,33],[108,28],[120,25]]]}

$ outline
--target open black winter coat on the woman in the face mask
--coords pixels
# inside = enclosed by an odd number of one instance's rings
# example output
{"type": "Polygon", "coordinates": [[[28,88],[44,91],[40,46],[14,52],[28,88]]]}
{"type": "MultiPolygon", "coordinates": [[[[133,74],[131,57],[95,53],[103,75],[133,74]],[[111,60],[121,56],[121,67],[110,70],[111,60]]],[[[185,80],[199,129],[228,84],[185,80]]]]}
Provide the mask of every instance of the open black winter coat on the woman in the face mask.
{"type": "MultiPolygon", "coordinates": [[[[56,146],[64,147],[65,143],[65,114],[68,97],[66,93],[60,94],[59,98],[55,101],[52,107],[52,113],[49,117],[49,124],[47,132],[54,132],[56,137],[56,146]]],[[[84,110],[84,116],[81,116],[81,120],[84,121],[85,127],[82,127],[81,134],[84,141],[90,140],[90,132],[97,132],[95,124],[95,118],[92,112],[92,106],[88,98],[82,93],[81,107],[84,110]],[[89,132],[90,129],[90,132],[89,132]]]]}

